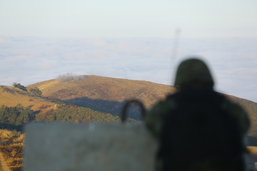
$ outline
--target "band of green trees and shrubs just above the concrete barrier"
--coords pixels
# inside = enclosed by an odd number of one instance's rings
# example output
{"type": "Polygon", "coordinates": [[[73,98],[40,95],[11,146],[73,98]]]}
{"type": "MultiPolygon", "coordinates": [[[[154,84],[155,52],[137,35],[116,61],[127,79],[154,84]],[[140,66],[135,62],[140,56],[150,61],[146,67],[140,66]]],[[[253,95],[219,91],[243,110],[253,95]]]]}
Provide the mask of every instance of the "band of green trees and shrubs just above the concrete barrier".
{"type": "MultiPolygon", "coordinates": [[[[48,108],[42,105],[40,109],[48,108]]],[[[118,123],[119,116],[99,112],[86,107],[77,107],[67,104],[57,105],[56,109],[50,109],[43,115],[35,114],[31,109],[25,109],[21,104],[15,107],[3,105],[0,108],[0,129],[15,129],[22,131],[28,122],[50,122],[50,123],[118,123]]],[[[138,120],[126,119],[129,123],[140,123],[138,120]]]]}

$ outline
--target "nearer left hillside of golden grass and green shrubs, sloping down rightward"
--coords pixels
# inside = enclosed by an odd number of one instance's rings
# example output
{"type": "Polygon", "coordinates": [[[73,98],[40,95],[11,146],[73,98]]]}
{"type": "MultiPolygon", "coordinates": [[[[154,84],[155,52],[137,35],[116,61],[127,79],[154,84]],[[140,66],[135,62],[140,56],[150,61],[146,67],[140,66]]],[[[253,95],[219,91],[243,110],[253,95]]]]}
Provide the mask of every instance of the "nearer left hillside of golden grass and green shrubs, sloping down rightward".
{"type": "MultiPolygon", "coordinates": [[[[90,123],[121,122],[121,118],[90,108],[39,97],[15,87],[0,86],[0,128],[22,130],[31,121],[90,123]]],[[[128,122],[138,123],[133,119],[128,122]]]]}

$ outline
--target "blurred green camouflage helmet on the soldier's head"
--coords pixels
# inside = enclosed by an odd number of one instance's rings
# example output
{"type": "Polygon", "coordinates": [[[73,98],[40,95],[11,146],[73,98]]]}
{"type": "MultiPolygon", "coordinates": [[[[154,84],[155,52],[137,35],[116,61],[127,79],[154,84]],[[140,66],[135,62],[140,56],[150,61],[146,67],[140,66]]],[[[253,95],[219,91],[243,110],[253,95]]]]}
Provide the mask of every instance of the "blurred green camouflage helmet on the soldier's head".
{"type": "Polygon", "coordinates": [[[213,88],[214,82],[207,65],[196,58],[183,61],[177,70],[175,86],[187,88],[213,88]]]}

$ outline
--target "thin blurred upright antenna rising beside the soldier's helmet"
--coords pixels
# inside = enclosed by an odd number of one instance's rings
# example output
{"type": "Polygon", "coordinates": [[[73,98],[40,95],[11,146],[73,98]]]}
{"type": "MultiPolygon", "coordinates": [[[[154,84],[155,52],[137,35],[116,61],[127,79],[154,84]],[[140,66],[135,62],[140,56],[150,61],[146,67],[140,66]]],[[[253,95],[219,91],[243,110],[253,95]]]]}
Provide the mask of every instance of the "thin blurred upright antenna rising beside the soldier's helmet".
{"type": "Polygon", "coordinates": [[[179,45],[179,39],[180,39],[180,28],[175,29],[175,35],[173,39],[173,45],[171,49],[171,56],[170,56],[170,66],[169,66],[169,71],[168,71],[168,80],[167,83],[171,83],[171,71],[172,71],[172,59],[176,59],[178,55],[178,45],[179,45]]]}

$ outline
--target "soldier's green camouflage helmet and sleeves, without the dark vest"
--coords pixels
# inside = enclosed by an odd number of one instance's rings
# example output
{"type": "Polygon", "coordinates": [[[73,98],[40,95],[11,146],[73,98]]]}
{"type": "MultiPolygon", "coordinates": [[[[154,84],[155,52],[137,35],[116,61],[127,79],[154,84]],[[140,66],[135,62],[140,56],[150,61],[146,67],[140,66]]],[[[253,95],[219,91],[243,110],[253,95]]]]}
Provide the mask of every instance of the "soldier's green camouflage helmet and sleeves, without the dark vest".
{"type": "MultiPolygon", "coordinates": [[[[188,59],[182,62],[177,70],[175,86],[179,86],[179,91],[188,89],[209,89],[213,90],[213,79],[208,67],[199,59],[188,59]]],[[[160,138],[163,118],[169,113],[170,108],[176,104],[172,96],[158,102],[146,113],[146,126],[157,137],[160,138]]],[[[222,106],[227,109],[238,122],[242,137],[249,128],[249,119],[244,110],[224,98],[222,106]]],[[[187,162],[187,161],[185,161],[187,162]]],[[[161,164],[157,163],[157,170],[161,169],[161,164]]]]}

